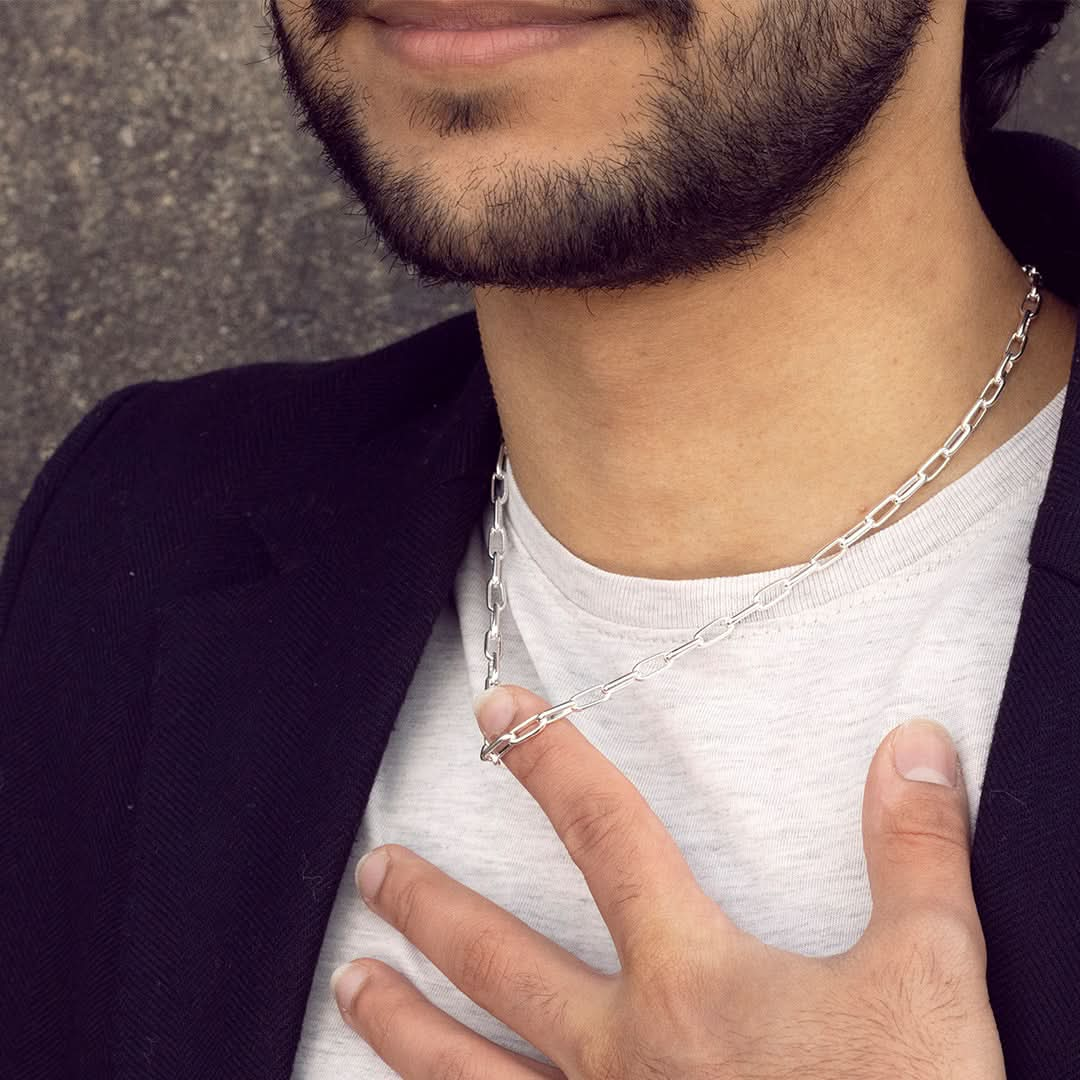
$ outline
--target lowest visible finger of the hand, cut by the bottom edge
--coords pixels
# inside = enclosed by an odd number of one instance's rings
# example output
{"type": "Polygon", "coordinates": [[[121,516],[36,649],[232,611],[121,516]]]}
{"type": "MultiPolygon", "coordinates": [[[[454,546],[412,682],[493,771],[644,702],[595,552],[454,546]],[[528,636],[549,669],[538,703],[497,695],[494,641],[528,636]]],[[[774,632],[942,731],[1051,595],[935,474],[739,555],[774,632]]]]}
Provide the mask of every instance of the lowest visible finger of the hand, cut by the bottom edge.
{"type": "Polygon", "coordinates": [[[497,1047],[448,1016],[381,960],[342,964],[330,988],[345,1022],[405,1080],[566,1080],[559,1069],[497,1047]]]}

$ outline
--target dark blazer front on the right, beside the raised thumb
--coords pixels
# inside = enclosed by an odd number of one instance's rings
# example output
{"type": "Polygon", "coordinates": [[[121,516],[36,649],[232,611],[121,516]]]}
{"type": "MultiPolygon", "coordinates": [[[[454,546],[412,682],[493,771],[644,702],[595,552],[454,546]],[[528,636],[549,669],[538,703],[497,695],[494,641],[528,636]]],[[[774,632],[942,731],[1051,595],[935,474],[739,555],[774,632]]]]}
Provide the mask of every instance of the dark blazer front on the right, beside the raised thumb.
{"type": "Polygon", "coordinates": [[[1017,1078],[1080,1066],[1080,342],[1029,561],[972,841],[990,1004],[1017,1078]]]}

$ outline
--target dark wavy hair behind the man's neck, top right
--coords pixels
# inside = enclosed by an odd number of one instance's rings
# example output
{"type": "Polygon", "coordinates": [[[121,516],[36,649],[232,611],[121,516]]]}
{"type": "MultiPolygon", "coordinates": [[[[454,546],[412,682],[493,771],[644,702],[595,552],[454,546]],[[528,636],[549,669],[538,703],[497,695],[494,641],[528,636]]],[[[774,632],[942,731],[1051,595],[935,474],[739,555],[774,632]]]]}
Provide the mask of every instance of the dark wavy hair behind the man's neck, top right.
{"type": "Polygon", "coordinates": [[[1005,114],[1072,0],[968,0],[960,91],[964,150],[1005,114]]]}

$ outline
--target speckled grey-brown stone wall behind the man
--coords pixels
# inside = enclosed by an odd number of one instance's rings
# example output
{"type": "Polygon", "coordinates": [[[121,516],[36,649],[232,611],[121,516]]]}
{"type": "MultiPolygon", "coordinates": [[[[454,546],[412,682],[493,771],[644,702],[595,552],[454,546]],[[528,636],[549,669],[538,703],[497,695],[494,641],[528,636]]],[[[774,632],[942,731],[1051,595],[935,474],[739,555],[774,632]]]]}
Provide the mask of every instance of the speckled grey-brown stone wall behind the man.
{"type": "MultiPolygon", "coordinates": [[[[261,0],[0,0],[0,551],[118,387],[363,354],[472,307],[378,252],[271,44],[261,0]]],[[[1076,12],[1003,125],[1080,145],[1076,12]]]]}

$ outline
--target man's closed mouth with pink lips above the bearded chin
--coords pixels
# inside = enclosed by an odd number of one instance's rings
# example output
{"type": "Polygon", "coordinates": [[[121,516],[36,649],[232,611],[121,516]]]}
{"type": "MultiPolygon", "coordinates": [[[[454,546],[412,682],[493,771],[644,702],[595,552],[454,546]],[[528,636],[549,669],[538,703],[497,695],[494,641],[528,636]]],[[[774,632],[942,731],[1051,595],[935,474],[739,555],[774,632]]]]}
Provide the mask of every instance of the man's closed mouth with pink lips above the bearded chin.
{"type": "MultiPolygon", "coordinates": [[[[521,5],[524,8],[524,4],[521,5]]],[[[475,13],[476,9],[473,9],[475,13]]],[[[490,9],[488,10],[490,11],[490,9]]],[[[570,44],[583,44],[605,32],[612,24],[625,22],[621,13],[577,17],[559,22],[492,23],[477,26],[473,17],[459,13],[441,15],[440,25],[431,22],[391,23],[370,17],[377,44],[388,54],[414,67],[484,67],[545,53],[570,44]],[[449,23],[450,25],[447,25],[449,23]]],[[[399,13],[399,18],[402,14],[399,13]]]]}

